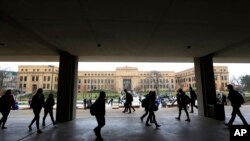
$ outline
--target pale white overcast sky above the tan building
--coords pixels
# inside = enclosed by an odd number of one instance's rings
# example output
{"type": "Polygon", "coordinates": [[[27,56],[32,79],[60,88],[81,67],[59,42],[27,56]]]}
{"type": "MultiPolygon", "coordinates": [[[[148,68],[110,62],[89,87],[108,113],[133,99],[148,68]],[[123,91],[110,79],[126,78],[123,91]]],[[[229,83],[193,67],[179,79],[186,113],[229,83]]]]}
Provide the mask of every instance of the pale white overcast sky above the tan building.
{"type": "MultiPolygon", "coordinates": [[[[58,62],[0,62],[0,70],[17,71],[18,65],[55,65],[58,62]]],[[[80,71],[115,71],[116,67],[137,67],[139,71],[175,71],[179,72],[194,67],[193,63],[138,63],[138,62],[80,62],[78,70],[80,71]]],[[[229,77],[239,77],[250,75],[250,64],[244,63],[216,63],[214,66],[228,66],[229,77]]]]}

